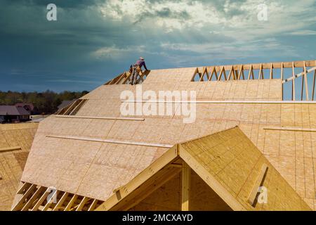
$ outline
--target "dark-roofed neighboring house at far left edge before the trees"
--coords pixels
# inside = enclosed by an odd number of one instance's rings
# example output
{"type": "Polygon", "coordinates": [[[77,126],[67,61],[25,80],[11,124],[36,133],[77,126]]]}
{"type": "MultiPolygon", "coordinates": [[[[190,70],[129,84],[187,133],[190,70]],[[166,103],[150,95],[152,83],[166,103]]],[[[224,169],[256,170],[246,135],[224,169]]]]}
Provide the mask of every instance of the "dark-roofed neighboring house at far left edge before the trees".
{"type": "Polygon", "coordinates": [[[0,105],[0,122],[24,122],[29,120],[29,113],[23,107],[0,105]]]}

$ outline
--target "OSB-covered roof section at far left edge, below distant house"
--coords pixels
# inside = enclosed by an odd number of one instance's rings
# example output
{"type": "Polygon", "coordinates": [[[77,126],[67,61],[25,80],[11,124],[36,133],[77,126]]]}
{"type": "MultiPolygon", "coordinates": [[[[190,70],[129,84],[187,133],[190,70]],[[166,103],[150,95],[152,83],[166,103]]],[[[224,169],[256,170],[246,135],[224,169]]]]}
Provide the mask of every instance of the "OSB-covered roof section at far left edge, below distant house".
{"type": "Polygon", "coordinates": [[[0,210],[11,210],[37,127],[37,123],[0,124],[0,148],[22,148],[0,153],[0,210]]]}

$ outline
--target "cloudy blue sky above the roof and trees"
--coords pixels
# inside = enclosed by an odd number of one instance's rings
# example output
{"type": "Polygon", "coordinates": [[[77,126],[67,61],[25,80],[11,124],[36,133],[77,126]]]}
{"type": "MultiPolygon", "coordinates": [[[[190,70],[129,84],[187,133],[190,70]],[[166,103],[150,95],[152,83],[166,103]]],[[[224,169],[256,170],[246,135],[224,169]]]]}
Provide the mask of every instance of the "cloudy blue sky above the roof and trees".
{"type": "Polygon", "coordinates": [[[149,69],[315,60],[316,1],[0,0],[1,91],[91,91],[149,69]],[[46,6],[57,6],[57,21],[46,6]],[[268,20],[258,20],[260,4],[268,20]]]}

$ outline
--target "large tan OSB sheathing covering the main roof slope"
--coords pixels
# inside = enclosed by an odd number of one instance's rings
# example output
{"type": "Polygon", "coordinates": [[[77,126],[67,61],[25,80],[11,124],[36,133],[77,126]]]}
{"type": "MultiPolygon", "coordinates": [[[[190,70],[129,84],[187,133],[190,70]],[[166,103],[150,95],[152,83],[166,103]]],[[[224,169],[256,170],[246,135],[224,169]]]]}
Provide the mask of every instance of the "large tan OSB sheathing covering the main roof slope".
{"type": "MultiPolygon", "coordinates": [[[[143,91],[196,91],[197,100],[209,101],[281,101],[282,100],[282,83],[280,79],[264,79],[264,80],[241,80],[229,82],[190,82],[195,72],[195,68],[181,68],[173,70],[152,70],[150,75],[143,82],[143,91]],[[172,82],[171,82],[172,81],[172,82]]],[[[131,85],[103,85],[98,89],[91,91],[83,98],[88,99],[79,110],[79,116],[99,116],[99,117],[120,117],[119,108],[121,106],[121,91],[132,91],[136,93],[136,86],[131,85]]],[[[315,196],[312,197],[312,181],[305,174],[305,161],[315,162],[315,133],[307,131],[290,131],[294,141],[286,139],[287,134],[284,131],[271,131],[263,129],[264,127],[316,127],[316,105],[308,104],[233,104],[233,103],[199,103],[197,106],[197,119],[192,124],[184,124],[183,117],[175,115],[149,115],[136,116],[145,117],[144,121],[127,121],[127,120],[96,120],[96,119],[74,119],[74,118],[58,118],[48,117],[40,123],[37,137],[34,140],[32,152],[26,165],[25,173],[22,180],[29,183],[41,184],[42,186],[62,186],[65,190],[73,192],[80,191],[81,195],[87,195],[91,198],[106,200],[108,193],[112,192],[112,188],[120,185],[116,180],[107,180],[106,177],[112,177],[112,173],[117,176],[126,174],[126,168],[112,167],[107,168],[106,165],[97,165],[93,162],[85,162],[88,165],[78,164],[79,154],[74,154],[73,158],[65,157],[67,151],[77,151],[78,143],[80,146],[84,141],[61,141],[60,139],[52,139],[46,137],[49,134],[70,135],[70,136],[88,136],[104,139],[116,139],[123,141],[141,141],[146,143],[164,143],[173,145],[179,141],[194,139],[199,136],[212,134],[216,131],[228,129],[239,125],[246,136],[264,153],[267,158],[273,158],[274,165],[280,169],[285,179],[298,190],[302,198],[314,207],[315,196]],[[289,142],[289,143],[288,143],[289,142]],[[65,146],[64,146],[65,145],[65,146]],[[49,147],[52,146],[52,147],[49,147]],[[56,147],[58,146],[58,148],[56,147]],[[281,146],[281,147],[280,147],[281,146]],[[291,146],[291,149],[290,149],[291,146]],[[287,150],[289,148],[289,150],[287,150]],[[288,156],[289,152],[295,155],[288,156]],[[281,151],[280,151],[281,150],[281,151]],[[314,154],[313,154],[314,153],[314,154]],[[284,155],[286,154],[286,155],[284,155]],[[283,158],[281,158],[283,157],[283,158]],[[51,158],[59,158],[60,160],[52,160],[51,158]],[[295,161],[303,162],[303,170],[299,169],[281,169],[282,165],[291,164],[295,161]],[[45,166],[44,162],[55,165],[45,166]],[[76,166],[74,166],[76,165],[76,166]],[[57,167],[58,166],[58,167],[57,167]],[[97,169],[100,166],[100,171],[97,169]],[[49,168],[49,169],[48,169],[49,168]],[[117,168],[117,170],[116,170],[117,168]],[[68,169],[72,171],[68,172],[68,169]],[[80,179],[70,184],[74,171],[80,171],[80,179]],[[82,170],[82,171],[81,171],[82,170]],[[303,171],[298,173],[298,171],[303,171]],[[290,174],[292,173],[293,174],[290,174]],[[88,175],[85,175],[88,174],[88,175]],[[98,177],[100,181],[90,181],[88,176],[98,177]],[[53,178],[50,176],[54,175],[53,178]],[[306,176],[306,177],[305,177],[306,176]],[[62,183],[58,181],[63,177],[62,183]],[[295,181],[294,181],[295,177],[295,181]],[[299,177],[303,177],[299,179],[299,177]],[[91,182],[91,184],[89,184],[91,182]],[[103,184],[102,182],[107,182],[103,184]],[[110,182],[110,184],[108,184],[110,182]],[[308,182],[308,190],[305,184],[308,182]],[[69,184],[68,184],[69,183],[69,184]],[[103,187],[106,186],[106,187],[103,187]],[[100,186],[99,186],[100,184],[100,186]],[[91,185],[96,188],[88,188],[91,185]],[[99,188],[98,188],[99,186],[99,188]],[[101,188],[102,186],[102,188],[101,188]],[[105,190],[106,189],[106,190],[105,190]],[[304,191],[299,191],[304,190],[304,191]]],[[[177,110],[180,109],[178,105],[177,110]]],[[[134,116],[133,116],[134,117],[134,116]]],[[[88,142],[84,146],[93,146],[88,142]]],[[[100,145],[100,144],[98,144],[100,145]]],[[[101,144],[100,148],[91,151],[93,159],[97,157],[101,149],[107,144],[101,144]]],[[[115,146],[115,145],[114,145],[115,146]]],[[[111,152],[111,158],[116,161],[121,159],[121,153],[115,153],[116,147],[110,146],[108,150],[111,152]]],[[[117,144],[117,146],[121,146],[117,144]]],[[[136,157],[136,161],[142,162],[140,167],[145,168],[152,160],[161,155],[164,149],[147,148],[139,146],[124,146],[124,148],[133,151],[140,148],[141,153],[136,157]],[[143,156],[149,149],[151,158],[143,156]]],[[[104,159],[107,161],[107,157],[104,159]]],[[[114,160],[114,161],[115,161],[114,160]]],[[[123,164],[129,165],[129,157],[123,164]]],[[[307,167],[307,165],[306,165],[307,167]]],[[[131,177],[124,179],[121,183],[127,182],[137,174],[138,171],[130,172],[131,177]]],[[[315,176],[315,171],[311,171],[308,176],[315,176]]],[[[315,180],[315,178],[314,178],[315,180]]],[[[314,184],[315,191],[315,184],[314,184]]]]}

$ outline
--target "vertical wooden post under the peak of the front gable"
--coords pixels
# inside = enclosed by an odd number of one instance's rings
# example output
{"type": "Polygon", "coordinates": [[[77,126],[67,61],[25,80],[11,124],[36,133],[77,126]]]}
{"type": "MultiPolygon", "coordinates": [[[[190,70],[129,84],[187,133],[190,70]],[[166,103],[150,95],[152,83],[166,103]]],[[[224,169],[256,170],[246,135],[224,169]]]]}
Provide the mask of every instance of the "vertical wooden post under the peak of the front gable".
{"type": "Polygon", "coordinates": [[[189,199],[190,199],[190,177],[191,177],[191,168],[185,162],[183,162],[182,167],[182,188],[181,188],[181,210],[189,211],[189,199]]]}

